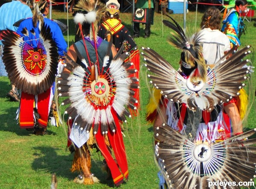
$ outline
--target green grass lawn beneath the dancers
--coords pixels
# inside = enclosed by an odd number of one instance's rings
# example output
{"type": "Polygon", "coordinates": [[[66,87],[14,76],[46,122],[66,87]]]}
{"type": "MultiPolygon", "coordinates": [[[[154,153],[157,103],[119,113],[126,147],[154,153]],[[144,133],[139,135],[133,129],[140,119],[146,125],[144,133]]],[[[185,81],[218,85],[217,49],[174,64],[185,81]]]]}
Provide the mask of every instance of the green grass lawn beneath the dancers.
{"type": "MultiPolygon", "coordinates": [[[[189,34],[195,32],[195,12],[189,11],[187,14],[187,28],[189,34]]],[[[201,20],[201,13],[197,15],[197,26],[201,20]]],[[[120,14],[123,23],[131,30],[131,14],[120,14]]],[[[173,14],[172,17],[183,26],[183,15],[173,14]]],[[[53,11],[52,19],[66,22],[67,14],[53,11]]],[[[69,45],[72,44],[75,34],[75,25],[71,14],[69,14],[69,45]]],[[[168,19],[167,17],[165,19],[168,19]]],[[[247,24],[246,35],[241,37],[242,46],[256,44],[255,39],[255,19],[247,24]]],[[[141,36],[144,35],[141,26],[141,36]]],[[[174,49],[166,42],[169,36],[169,28],[161,24],[161,15],[155,13],[154,25],[151,27],[151,36],[148,39],[136,38],[139,48],[150,47],[166,58],[175,68],[178,68],[180,51],[174,49]],[[163,35],[163,36],[162,36],[163,35]]],[[[67,40],[67,32],[64,33],[67,40]]],[[[253,56],[250,55],[253,60],[253,56]]],[[[141,61],[143,65],[143,61],[141,61]]],[[[148,86],[146,82],[145,68],[140,72],[141,85],[141,109],[140,116],[128,119],[125,125],[124,138],[130,177],[127,183],[122,184],[121,189],[157,189],[158,168],[154,162],[153,131],[151,124],[145,121],[145,104],[148,102],[148,86]]],[[[96,152],[92,156],[92,172],[100,179],[101,183],[93,186],[84,186],[73,183],[73,178],[77,173],[70,172],[73,161],[73,154],[66,149],[67,135],[62,127],[48,127],[48,135],[36,136],[27,130],[21,130],[17,125],[16,110],[19,106],[17,102],[9,102],[6,93],[9,91],[9,79],[0,77],[0,189],[49,189],[51,174],[56,173],[58,178],[58,189],[107,189],[114,187],[112,181],[106,180],[106,173],[101,171],[103,157],[96,152]]],[[[255,79],[250,88],[254,93],[255,79]]],[[[251,104],[254,99],[251,97],[251,104]]],[[[250,111],[245,130],[254,128],[255,108],[250,111]]]]}

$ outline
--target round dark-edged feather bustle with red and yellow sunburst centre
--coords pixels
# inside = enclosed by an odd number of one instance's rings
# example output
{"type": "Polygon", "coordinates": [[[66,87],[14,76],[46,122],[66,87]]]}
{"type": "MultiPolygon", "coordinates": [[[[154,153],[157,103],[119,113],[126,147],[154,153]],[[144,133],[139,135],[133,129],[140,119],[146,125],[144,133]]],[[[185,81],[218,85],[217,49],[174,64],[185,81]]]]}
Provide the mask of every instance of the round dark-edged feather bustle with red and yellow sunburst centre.
{"type": "Polygon", "coordinates": [[[40,39],[38,39],[40,53],[37,53],[38,49],[32,48],[30,44],[23,41],[23,38],[12,31],[6,31],[6,34],[3,34],[3,39],[3,62],[12,84],[23,92],[34,95],[49,89],[55,81],[58,67],[58,51],[52,40],[49,26],[43,24],[40,39]],[[44,57],[41,57],[41,62],[33,62],[31,58],[33,55],[29,55],[28,52],[36,52],[36,56],[41,54],[44,57]],[[32,67],[38,66],[39,63],[42,69],[38,71],[34,69],[32,72],[32,67]]]}

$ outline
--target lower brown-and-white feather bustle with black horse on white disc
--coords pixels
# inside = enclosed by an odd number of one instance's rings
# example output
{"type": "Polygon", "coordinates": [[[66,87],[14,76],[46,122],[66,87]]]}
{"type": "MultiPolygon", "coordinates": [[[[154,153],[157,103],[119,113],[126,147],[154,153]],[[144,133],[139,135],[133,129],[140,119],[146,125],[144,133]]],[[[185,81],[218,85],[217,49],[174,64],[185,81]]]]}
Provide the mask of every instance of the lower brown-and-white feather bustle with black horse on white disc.
{"type": "Polygon", "coordinates": [[[155,155],[169,189],[219,189],[221,186],[209,187],[209,182],[253,181],[256,138],[244,138],[254,133],[256,129],[216,144],[195,144],[166,124],[157,127],[155,155]]]}

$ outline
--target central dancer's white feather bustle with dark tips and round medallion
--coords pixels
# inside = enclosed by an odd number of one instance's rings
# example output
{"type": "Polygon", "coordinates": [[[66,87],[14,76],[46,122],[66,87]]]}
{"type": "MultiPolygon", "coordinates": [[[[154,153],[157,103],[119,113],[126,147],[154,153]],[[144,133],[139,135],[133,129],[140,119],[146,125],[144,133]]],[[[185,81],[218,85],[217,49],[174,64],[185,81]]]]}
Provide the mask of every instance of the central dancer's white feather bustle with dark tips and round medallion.
{"type": "Polygon", "coordinates": [[[113,114],[126,122],[126,116],[131,117],[127,108],[137,109],[133,88],[139,87],[138,79],[130,77],[137,70],[130,68],[133,63],[123,63],[127,56],[119,51],[110,65],[107,62],[101,68],[87,65],[86,71],[67,56],[65,68],[71,73],[61,73],[58,90],[59,95],[69,97],[62,104],[70,104],[65,113],[74,120],[71,130],[74,136],[70,138],[77,147],[86,142],[92,127],[93,134],[109,130],[114,133],[117,120],[113,114]]]}

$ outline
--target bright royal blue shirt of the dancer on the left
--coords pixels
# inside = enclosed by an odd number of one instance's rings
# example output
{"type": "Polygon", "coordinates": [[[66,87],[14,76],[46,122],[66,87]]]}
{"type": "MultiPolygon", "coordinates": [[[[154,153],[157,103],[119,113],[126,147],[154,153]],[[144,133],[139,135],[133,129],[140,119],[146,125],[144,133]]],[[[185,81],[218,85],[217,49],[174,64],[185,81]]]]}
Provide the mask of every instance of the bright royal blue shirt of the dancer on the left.
{"type": "MultiPolygon", "coordinates": [[[[38,22],[38,24],[39,24],[39,22],[38,22]]],[[[34,48],[37,47],[36,40],[30,40],[30,39],[35,39],[35,38],[39,39],[40,31],[38,28],[38,24],[37,24],[37,27],[35,28],[32,23],[32,18],[28,18],[26,20],[23,20],[20,23],[20,26],[17,30],[17,34],[19,34],[21,37],[23,37],[24,34],[22,34],[21,31],[23,30],[23,28],[25,28],[25,27],[27,28],[27,30],[29,31],[29,37],[24,36],[23,40],[28,41],[27,43],[32,44],[34,48]],[[35,30],[35,36],[30,32],[30,30],[32,30],[32,28],[34,28],[34,30],[35,30]]],[[[49,25],[49,27],[51,29],[52,39],[58,47],[58,54],[60,56],[64,56],[63,51],[67,52],[67,43],[62,35],[61,28],[58,26],[57,23],[53,22],[52,20],[49,20],[48,18],[44,18],[44,24],[49,25]]]]}

